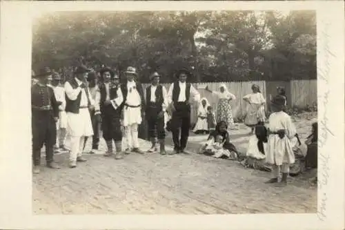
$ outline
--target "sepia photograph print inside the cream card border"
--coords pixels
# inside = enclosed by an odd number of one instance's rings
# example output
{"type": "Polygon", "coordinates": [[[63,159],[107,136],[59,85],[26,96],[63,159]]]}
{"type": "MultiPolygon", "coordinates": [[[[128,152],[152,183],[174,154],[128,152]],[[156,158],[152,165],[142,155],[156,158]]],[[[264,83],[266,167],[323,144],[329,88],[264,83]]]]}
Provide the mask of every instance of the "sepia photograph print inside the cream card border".
{"type": "Polygon", "coordinates": [[[33,213],[316,213],[316,15],[36,15],[33,213]]]}

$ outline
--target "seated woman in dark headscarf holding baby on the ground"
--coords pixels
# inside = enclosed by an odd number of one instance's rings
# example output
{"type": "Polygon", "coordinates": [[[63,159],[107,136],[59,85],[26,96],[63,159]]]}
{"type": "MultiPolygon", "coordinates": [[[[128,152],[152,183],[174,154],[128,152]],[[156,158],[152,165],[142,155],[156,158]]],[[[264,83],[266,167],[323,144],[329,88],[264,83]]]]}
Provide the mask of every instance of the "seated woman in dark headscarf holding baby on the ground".
{"type": "Polygon", "coordinates": [[[236,160],[238,152],[235,146],[230,143],[230,135],[227,130],[228,125],[226,122],[218,122],[215,131],[208,136],[207,142],[199,148],[199,154],[213,155],[222,158],[226,157],[230,160],[236,160]],[[222,146],[222,148],[219,148],[219,146],[222,146]]]}

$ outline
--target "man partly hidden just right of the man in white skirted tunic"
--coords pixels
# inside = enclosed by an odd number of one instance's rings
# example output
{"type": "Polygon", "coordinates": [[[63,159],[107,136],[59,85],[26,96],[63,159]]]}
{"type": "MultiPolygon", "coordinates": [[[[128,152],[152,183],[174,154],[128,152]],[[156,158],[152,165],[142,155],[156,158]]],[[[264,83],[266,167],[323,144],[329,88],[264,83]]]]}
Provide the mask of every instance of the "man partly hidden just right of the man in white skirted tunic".
{"type": "MultiPolygon", "coordinates": [[[[90,97],[95,102],[94,104],[95,109],[90,110],[92,129],[93,129],[92,149],[90,151],[90,154],[94,154],[98,151],[98,148],[99,148],[99,132],[101,131],[101,111],[99,110],[100,95],[99,95],[99,86],[97,85],[97,73],[95,71],[89,72],[86,81],[88,83],[90,97]]],[[[87,141],[88,141],[88,137],[85,137],[83,149],[85,149],[87,141]]]]}

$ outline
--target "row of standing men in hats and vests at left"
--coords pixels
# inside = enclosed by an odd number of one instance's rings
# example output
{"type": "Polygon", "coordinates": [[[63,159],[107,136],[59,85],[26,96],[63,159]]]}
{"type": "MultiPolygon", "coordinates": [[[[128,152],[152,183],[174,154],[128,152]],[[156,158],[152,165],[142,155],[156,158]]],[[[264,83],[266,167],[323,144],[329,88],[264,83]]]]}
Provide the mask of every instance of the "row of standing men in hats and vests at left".
{"type": "Polygon", "coordinates": [[[148,152],[157,151],[166,155],[165,123],[167,108],[171,111],[171,131],[174,151],[168,154],[186,153],[190,130],[190,102],[199,102],[199,93],[186,83],[190,71],[177,71],[177,81],[168,91],[159,84],[159,73],[150,75],[151,84],[146,88],[146,98],[137,70],[128,67],[126,82],[120,84],[119,75],[110,68],[102,68],[99,73],[86,66],[75,69],[71,79],[61,86],[61,77],[50,68],[32,71],[32,159],[33,171],[39,173],[41,148],[46,146],[47,166],[59,169],[54,162],[54,150],[69,151],[69,166],[75,168],[77,162],[86,162],[83,157],[88,137],[92,136],[92,151],[99,148],[99,130],[106,140],[107,157],[119,160],[124,154],[140,153],[138,126],[144,117],[148,123],[148,134],[152,142],[148,152]],[[97,84],[97,74],[101,81],[97,84]],[[101,127],[100,127],[101,126],[101,127]],[[126,150],[122,151],[122,142],[126,150]],[[113,142],[115,151],[113,151],[113,142]]]}

